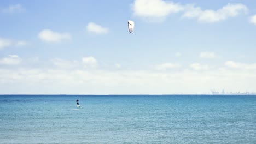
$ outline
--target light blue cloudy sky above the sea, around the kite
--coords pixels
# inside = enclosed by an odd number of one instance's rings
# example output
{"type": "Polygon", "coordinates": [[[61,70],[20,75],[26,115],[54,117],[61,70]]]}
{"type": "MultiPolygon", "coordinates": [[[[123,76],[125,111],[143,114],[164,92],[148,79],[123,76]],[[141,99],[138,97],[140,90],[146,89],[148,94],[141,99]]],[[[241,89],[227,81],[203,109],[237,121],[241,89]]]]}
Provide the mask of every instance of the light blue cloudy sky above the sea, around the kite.
{"type": "Polygon", "coordinates": [[[0,1],[0,94],[256,92],[255,38],[253,0],[0,1]]]}

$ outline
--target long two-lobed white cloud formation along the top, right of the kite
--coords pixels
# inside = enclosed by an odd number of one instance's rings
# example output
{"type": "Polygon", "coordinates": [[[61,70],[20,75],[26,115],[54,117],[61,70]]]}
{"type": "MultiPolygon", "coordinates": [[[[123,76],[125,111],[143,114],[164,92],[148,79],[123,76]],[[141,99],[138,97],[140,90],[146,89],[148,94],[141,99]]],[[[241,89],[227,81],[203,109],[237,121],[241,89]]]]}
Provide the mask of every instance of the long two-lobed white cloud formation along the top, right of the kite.
{"type": "Polygon", "coordinates": [[[182,18],[197,19],[199,22],[219,22],[236,17],[240,14],[246,14],[248,8],[243,4],[227,4],[217,10],[195,7],[187,4],[181,5],[171,1],[164,0],[135,0],[132,4],[133,15],[147,20],[164,20],[173,13],[183,13],[182,18]]]}

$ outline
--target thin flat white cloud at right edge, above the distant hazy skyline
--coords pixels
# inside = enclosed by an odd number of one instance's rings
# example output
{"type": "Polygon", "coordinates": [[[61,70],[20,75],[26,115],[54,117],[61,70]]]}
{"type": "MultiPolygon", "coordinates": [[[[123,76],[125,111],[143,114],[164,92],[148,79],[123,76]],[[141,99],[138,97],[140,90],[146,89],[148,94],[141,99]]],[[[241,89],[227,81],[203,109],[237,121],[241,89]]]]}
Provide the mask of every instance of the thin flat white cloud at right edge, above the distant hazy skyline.
{"type": "Polygon", "coordinates": [[[256,70],[256,63],[246,64],[246,63],[240,63],[240,62],[234,62],[234,61],[226,61],[225,65],[226,67],[233,68],[233,69],[256,70]]]}

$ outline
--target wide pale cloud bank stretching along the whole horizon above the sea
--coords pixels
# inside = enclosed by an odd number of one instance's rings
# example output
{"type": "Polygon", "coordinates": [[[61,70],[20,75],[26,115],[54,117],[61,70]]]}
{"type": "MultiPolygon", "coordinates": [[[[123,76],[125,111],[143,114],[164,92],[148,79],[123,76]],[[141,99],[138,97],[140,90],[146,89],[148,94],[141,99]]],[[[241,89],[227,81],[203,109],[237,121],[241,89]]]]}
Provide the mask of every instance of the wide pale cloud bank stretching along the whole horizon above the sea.
{"type": "Polygon", "coordinates": [[[110,71],[0,68],[1,94],[202,94],[223,88],[226,92],[238,89],[255,91],[255,81],[255,71],[229,69],[110,71]]]}

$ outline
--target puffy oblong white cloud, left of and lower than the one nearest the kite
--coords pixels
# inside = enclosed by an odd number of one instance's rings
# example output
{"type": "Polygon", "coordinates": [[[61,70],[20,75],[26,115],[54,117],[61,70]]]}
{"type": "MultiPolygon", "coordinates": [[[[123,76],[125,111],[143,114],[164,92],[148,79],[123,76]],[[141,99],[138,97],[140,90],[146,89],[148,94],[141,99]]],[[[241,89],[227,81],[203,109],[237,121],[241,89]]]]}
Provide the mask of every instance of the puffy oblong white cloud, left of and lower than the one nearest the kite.
{"type": "Polygon", "coordinates": [[[70,40],[71,35],[69,33],[58,33],[50,29],[43,29],[39,32],[38,38],[48,43],[59,43],[64,40],[70,40]]]}

